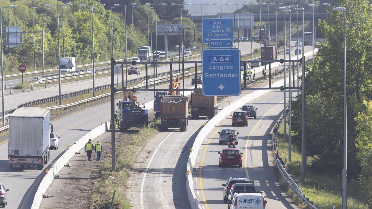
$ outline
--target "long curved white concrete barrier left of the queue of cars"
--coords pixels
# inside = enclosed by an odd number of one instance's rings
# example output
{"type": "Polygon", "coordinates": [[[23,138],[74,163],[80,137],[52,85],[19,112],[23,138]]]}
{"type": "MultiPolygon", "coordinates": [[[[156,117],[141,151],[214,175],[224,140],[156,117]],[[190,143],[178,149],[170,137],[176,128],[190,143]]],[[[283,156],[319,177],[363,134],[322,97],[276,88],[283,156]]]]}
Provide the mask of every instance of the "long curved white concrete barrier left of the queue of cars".
{"type": "MultiPolygon", "coordinates": [[[[314,49],[314,53],[316,53],[318,49],[314,49]]],[[[312,51],[307,52],[304,54],[304,56],[310,56],[312,55],[312,51]]],[[[296,59],[297,56],[292,57],[291,59],[296,59]]],[[[280,64],[279,62],[275,62],[271,65],[271,67],[278,67],[280,64]]],[[[262,69],[262,67],[259,67],[258,69],[262,69]]],[[[256,68],[257,69],[257,68],[256,68]]],[[[286,83],[289,83],[289,78],[286,78],[286,83]]],[[[272,87],[280,87],[283,86],[283,80],[277,81],[273,83],[272,87]]],[[[269,86],[266,86],[269,87],[269,86]]],[[[231,103],[229,106],[225,107],[223,110],[221,110],[217,115],[215,115],[212,119],[206,123],[206,125],[199,131],[198,135],[195,138],[194,144],[192,145],[192,150],[195,150],[194,152],[191,152],[189,155],[189,159],[187,160],[187,170],[190,171],[190,173],[186,174],[186,192],[187,192],[187,198],[189,200],[190,206],[192,209],[201,209],[201,204],[199,203],[198,199],[195,196],[194,193],[194,186],[193,186],[193,179],[192,179],[192,173],[193,168],[195,166],[196,158],[198,157],[198,151],[200,149],[200,146],[204,139],[208,136],[209,132],[212,131],[212,129],[218,125],[221,120],[225,119],[226,116],[230,115],[230,113],[239,107],[243,106],[246,103],[251,102],[252,100],[263,96],[266,93],[269,93],[272,90],[257,90],[253,93],[250,93],[246,96],[242,96],[241,99],[239,99],[236,102],[231,103]]]]}

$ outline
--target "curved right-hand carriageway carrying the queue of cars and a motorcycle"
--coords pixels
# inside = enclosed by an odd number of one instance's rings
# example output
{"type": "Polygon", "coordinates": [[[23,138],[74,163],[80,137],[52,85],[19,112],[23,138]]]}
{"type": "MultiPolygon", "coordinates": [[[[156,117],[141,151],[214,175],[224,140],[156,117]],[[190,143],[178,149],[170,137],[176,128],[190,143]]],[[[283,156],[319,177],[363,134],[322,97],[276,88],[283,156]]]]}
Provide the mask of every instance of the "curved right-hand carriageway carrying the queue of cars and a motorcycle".
{"type": "Polygon", "coordinates": [[[196,197],[206,209],[227,207],[227,203],[223,201],[221,184],[226,183],[229,177],[246,177],[255,181],[256,190],[262,191],[267,200],[266,208],[297,208],[276,178],[275,158],[269,136],[270,130],[283,112],[283,92],[272,91],[251,104],[258,108],[257,119],[249,119],[248,127],[232,127],[229,116],[210,132],[202,144],[193,171],[193,183],[196,197]],[[217,152],[227,147],[227,143],[218,145],[217,132],[224,128],[234,128],[239,132],[239,143],[236,147],[244,153],[242,168],[230,165],[219,167],[217,152]]]}

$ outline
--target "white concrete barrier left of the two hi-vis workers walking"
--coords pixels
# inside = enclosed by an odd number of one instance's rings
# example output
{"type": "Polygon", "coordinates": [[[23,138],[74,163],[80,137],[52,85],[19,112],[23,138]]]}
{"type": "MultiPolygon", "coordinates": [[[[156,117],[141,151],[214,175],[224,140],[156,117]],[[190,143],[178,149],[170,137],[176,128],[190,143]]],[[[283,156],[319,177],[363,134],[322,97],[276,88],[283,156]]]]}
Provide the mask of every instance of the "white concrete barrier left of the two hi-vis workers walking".
{"type": "Polygon", "coordinates": [[[102,123],[102,125],[94,128],[92,131],[88,132],[88,134],[84,135],[79,140],[77,140],[73,145],[70,146],[70,148],[68,148],[62,154],[60,158],[58,158],[58,160],[49,169],[48,174],[45,174],[44,178],[41,180],[38,190],[36,191],[35,196],[33,198],[31,209],[39,208],[43,198],[43,194],[47,192],[47,189],[52,183],[54,176],[61,171],[61,169],[64,167],[65,164],[68,163],[68,161],[70,161],[70,159],[75,155],[75,152],[78,152],[81,148],[83,148],[89,139],[94,139],[97,136],[109,130],[110,125],[111,121],[109,120],[105,123],[102,123]]]}

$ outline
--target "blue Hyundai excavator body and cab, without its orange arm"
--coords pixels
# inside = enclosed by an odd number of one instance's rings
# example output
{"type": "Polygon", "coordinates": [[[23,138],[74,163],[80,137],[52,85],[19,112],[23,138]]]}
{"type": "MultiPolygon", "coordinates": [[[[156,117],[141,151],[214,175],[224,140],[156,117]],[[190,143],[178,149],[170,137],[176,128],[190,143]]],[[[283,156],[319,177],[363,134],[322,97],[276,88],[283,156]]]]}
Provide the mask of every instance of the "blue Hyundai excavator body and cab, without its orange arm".
{"type": "Polygon", "coordinates": [[[119,101],[116,106],[118,106],[120,131],[148,125],[147,108],[133,105],[132,101],[119,101]]]}

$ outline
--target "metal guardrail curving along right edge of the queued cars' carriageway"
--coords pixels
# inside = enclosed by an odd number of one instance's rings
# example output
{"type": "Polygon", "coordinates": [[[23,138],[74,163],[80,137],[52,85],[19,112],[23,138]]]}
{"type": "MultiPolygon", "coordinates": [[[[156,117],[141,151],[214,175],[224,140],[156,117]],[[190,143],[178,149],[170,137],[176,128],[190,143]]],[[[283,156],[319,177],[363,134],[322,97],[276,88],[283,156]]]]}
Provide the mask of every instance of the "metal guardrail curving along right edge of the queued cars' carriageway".
{"type": "MultiPolygon", "coordinates": [[[[288,109],[286,109],[288,112],[288,109]]],[[[302,200],[304,203],[311,209],[317,209],[317,206],[314,206],[314,203],[309,200],[302,192],[302,190],[297,185],[298,180],[291,174],[291,172],[285,169],[285,163],[283,162],[282,158],[279,157],[279,150],[278,150],[278,129],[280,125],[284,122],[284,113],[280,116],[280,119],[276,122],[272,130],[272,141],[273,141],[273,154],[275,156],[276,166],[278,167],[280,175],[283,177],[287,185],[292,189],[294,193],[302,200]]]]}

